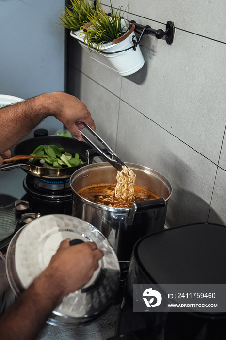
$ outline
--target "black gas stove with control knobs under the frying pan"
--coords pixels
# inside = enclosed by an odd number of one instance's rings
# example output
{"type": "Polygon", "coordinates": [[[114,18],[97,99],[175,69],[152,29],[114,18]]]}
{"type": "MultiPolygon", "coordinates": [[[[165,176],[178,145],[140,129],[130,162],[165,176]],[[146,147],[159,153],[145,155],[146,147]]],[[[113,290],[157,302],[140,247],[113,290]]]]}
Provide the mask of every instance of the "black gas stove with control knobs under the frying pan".
{"type": "MultiPolygon", "coordinates": [[[[11,173],[7,174],[4,184],[5,187],[12,187],[17,177],[13,174],[18,174],[20,179],[20,171],[7,172],[11,173]]],[[[38,217],[48,214],[71,215],[72,191],[69,181],[47,180],[28,174],[22,180],[23,190],[15,190],[14,196],[0,194],[0,250],[8,246],[19,228],[38,217]],[[16,198],[19,193],[20,196],[16,198]]]]}

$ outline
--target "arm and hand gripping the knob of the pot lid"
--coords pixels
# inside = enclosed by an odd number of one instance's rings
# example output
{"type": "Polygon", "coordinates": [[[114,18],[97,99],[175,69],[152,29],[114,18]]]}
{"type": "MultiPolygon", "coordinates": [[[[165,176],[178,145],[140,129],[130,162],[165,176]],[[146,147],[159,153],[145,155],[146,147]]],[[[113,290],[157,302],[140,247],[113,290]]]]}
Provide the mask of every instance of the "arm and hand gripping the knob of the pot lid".
{"type": "Polygon", "coordinates": [[[91,279],[102,257],[94,242],[70,246],[64,240],[48,267],[0,318],[0,339],[35,339],[63,297],[91,279]]]}

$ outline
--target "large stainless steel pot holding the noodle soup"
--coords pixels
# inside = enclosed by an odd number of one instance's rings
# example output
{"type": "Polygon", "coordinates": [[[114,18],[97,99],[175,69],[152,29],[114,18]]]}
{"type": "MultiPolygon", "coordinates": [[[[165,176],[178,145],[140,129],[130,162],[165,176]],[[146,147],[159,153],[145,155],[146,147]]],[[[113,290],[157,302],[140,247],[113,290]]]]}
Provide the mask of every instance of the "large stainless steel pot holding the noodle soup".
{"type": "Polygon", "coordinates": [[[126,163],[136,174],[136,185],[157,194],[160,199],[133,204],[131,209],[112,208],[90,202],[77,192],[86,186],[115,183],[117,171],[108,163],[96,163],[75,171],[70,178],[73,191],[72,215],[94,225],[109,240],[119,261],[130,260],[136,241],[164,229],[168,200],[172,193],[169,181],[159,172],[126,163]]]}

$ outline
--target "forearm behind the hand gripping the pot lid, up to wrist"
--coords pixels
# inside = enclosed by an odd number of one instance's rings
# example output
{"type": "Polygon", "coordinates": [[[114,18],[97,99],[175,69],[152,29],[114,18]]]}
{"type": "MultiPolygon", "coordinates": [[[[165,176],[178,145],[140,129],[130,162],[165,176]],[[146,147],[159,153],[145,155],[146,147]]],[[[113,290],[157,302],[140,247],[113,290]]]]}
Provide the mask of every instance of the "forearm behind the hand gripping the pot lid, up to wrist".
{"type": "Polygon", "coordinates": [[[61,302],[62,290],[53,275],[43,272],[0,319],[1,340],[33,340],[52,310],[61,302]]]}

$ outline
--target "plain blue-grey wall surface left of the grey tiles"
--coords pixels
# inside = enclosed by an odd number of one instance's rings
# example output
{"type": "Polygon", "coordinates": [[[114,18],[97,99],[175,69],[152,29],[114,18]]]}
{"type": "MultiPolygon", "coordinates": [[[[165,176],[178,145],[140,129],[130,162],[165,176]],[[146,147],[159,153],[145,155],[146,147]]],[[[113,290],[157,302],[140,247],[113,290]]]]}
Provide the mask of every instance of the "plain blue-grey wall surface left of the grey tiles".
{"type": "MultiPolygon", "coordinates": [[[[64,91],[64,0],[0,0],[0,94],[64,91]]],[[[48,118],[40,127],[62,127],[48,118]]]]}

